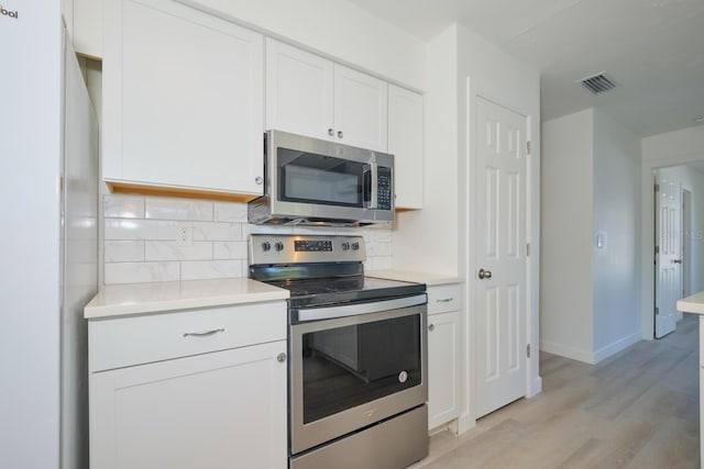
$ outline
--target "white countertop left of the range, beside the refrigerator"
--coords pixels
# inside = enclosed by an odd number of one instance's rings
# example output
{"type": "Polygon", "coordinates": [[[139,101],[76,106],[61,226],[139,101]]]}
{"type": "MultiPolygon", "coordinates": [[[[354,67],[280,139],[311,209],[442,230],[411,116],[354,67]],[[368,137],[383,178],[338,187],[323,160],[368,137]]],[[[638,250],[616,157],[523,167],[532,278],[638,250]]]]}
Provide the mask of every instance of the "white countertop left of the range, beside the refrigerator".
{"type": "Polygon", "coordinates": [[[286,300],[288,290],[246,278],[107,286],[84,309],[86,319],[286,300]]]}

